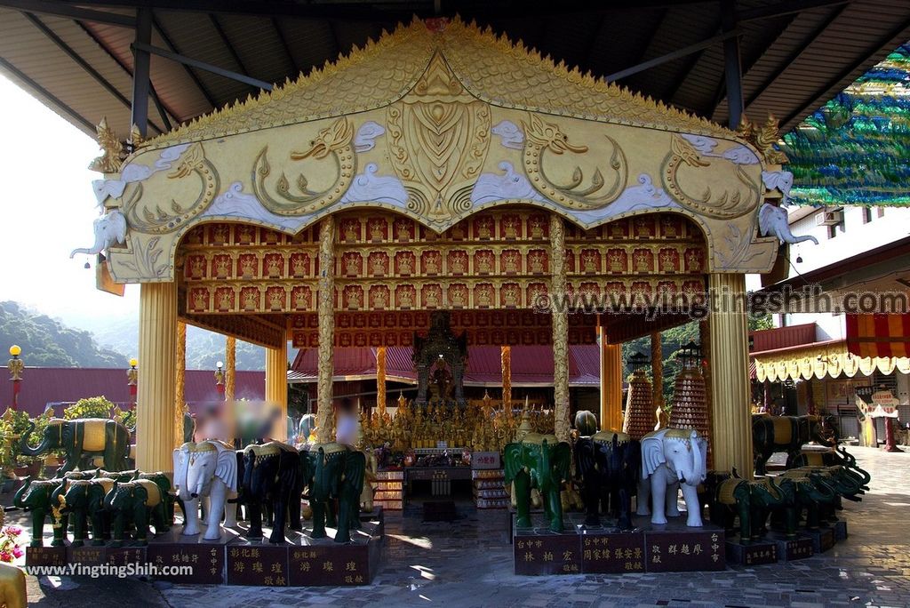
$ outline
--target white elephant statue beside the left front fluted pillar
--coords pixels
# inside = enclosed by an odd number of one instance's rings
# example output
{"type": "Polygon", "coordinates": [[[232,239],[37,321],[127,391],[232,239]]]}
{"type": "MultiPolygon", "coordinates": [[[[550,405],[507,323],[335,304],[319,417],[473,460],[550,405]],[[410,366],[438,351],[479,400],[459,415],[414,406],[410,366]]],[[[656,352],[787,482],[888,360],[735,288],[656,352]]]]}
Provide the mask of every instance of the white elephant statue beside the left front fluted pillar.
{"type": "Polygon", "coordinates": [[[183,502],[184,536],[199,530],[199,501],[206,506],[206,533],[203,539],[221,538],[221,516],[225,526],[237,525],[237,512],[225,507],[237,497],[237,452],[221,441],[187,441],[174,451],[174,486],[183,502]]]}

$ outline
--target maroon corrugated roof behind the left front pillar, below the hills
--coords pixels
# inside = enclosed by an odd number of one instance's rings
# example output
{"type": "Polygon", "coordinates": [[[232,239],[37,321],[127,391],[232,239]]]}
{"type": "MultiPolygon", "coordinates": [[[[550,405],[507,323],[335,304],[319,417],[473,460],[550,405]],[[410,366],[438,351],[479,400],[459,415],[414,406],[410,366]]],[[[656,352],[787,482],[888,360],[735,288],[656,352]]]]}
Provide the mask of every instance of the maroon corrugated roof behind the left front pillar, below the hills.
{"type": "MultiPolygon", "coordinates": [[[[190,410],[199,402],[217,400],[212,370],[187,370],[184,394],[190,410]]],[[[264,399],[266,377],[263,371],[238,371],[235,395],[238,399],[264,399]]],[[[58,403],[70,403],[86,397],[104,396],[115,403],[129,401],[126,370],[110,368],[25,368],[19,392],[19,409],[37,415],[47,405],[57,415],[63,410],[58,403]]],[[[5,387],[0,403],[12,399],[12,390],[5,387]]]]}

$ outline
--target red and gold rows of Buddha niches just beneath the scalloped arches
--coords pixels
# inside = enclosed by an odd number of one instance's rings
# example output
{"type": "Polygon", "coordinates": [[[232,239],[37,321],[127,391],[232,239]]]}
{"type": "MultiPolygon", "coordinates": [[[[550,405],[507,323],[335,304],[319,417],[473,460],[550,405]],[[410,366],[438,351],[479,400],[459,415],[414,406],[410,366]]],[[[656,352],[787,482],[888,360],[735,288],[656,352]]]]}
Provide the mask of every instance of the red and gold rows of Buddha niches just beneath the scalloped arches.
{"type": "MultiPolygon", "coordinates": [[[[339,311],[534,309],[549,289],[549,219],[539,210],[482,212],[441,235],[380,212],[339,215],[336,229],[339,311]]],[[[318,230],[293,238],[242,224],[189,231],[180,249],[187,313],[315,312],[318,230]]],[[[568,226],[566,253],[570,294],[619,294],[629,307],[703,283],[701,232],[672,214],[568,226]]]]}

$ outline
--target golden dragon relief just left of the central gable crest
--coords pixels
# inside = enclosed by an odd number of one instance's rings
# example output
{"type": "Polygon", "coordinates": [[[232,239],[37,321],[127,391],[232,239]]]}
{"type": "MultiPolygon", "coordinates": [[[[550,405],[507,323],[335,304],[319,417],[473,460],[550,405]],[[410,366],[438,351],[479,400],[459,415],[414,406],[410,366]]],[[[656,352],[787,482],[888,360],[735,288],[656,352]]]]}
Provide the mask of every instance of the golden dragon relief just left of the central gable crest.
{"type": "Polygon", "coordinates": [[[309,147],[302,152],[291,152],[291,160],[306,158],[331,158],[337,176],[331,186],[322,191],[309,189],[308,179],[302,173],[297,177],[296,186],[300,194],[294,194],[288,177],[282,173],[275,184],[275,195],[268,192],[266,178],[271,175],[272,167],[268,164],[268,146],[263,147],[253,163],[252,184],[256,198],[272,213],[280,216],[298,216],[312,213],[337,202],[344,196],[350,181],[357,173],[357,157],[354,154],[352,140],[354,127],[348,117],[340,117],[329,127],[309,142],[309,147]]]}

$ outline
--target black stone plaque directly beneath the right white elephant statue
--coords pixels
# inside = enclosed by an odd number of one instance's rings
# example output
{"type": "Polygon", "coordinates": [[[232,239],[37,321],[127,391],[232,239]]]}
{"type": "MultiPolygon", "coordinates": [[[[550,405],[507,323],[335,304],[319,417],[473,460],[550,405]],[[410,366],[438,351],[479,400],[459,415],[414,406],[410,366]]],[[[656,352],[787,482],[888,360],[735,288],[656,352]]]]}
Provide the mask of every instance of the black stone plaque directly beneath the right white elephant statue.
{"type": "Polygon", "coordinates": [[[648,531],[645,535],[645,569],[649,573],[684,573],[725,570],[723,530],[688,528],[648,531]]]}

